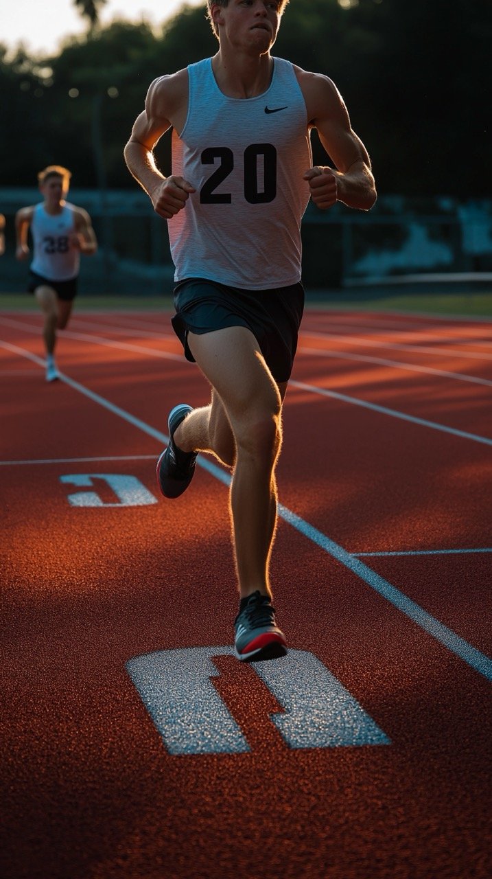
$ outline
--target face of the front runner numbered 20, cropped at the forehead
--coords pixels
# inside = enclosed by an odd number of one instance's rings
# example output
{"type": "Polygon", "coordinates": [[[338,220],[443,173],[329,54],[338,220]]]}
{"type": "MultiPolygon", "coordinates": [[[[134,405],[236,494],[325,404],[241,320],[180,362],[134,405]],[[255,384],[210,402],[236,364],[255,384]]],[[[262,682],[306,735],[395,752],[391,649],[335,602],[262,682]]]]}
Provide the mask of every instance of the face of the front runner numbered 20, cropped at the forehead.
{"type": "Polygon", "coordinates": [[[235,47],[257,48],[263,54],[277,39],[280,0],[229,0],[228,6],[215,9],[235,47]]]}

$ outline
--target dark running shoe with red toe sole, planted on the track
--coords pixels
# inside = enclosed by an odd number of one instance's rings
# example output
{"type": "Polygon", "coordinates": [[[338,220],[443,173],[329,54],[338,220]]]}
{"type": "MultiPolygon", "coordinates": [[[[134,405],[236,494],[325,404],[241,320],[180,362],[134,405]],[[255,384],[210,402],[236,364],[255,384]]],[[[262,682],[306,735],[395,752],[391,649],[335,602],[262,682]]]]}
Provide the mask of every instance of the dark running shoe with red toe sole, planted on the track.
{"type": "Polygon", "coordinates": [[[275,608],[268,595],[253,592],[242,599],[234,622],[236,659],[259,662],[261,659],[285,657],[286,636],[275,621],[275,608]]]}

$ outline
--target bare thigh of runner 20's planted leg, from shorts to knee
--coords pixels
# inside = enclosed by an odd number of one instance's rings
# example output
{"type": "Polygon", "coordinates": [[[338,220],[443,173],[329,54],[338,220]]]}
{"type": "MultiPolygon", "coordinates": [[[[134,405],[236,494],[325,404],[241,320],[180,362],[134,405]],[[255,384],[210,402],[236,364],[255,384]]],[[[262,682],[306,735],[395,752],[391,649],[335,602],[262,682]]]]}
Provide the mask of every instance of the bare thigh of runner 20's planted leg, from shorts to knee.
{"type": "Polygon", "coordinates": [[[279,388],[257,339],[246,327],[227,327],[200,335],[190,332],[188,345],[229,418],[255,409],[279,411],[279,388]]]}

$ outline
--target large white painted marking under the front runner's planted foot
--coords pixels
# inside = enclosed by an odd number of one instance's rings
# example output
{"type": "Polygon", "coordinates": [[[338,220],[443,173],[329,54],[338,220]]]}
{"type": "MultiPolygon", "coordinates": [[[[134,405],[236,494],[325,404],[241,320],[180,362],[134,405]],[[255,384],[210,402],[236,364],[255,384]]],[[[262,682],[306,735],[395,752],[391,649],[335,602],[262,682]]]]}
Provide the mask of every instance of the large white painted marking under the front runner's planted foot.
{"type": "MultiPolygon", "coordinates": [[[[127,672],[170,754],[244,753],[250,746],[211,677],[231,647],[162,650],[134,657],[127,672]]],[[[389,745],[389,739],[328,668],[306,650],[252,666],[285,714],[271,716],[290,748],[389,745]]]]}

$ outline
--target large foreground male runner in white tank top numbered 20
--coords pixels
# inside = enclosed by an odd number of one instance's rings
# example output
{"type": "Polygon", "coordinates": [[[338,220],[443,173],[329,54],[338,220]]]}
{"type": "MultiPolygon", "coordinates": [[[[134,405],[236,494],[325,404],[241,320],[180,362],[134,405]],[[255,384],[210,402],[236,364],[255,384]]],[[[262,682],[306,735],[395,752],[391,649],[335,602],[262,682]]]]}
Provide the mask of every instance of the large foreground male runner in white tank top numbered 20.
{"type": "Polygon", "coordinates": [[[129,170],[168,221],[173,325],[212,385],[208,406],[171,410],[157,476],[164,496],[177,498],[198,451],[233,469],[242,661],[286,653],[269,565],[287,384],[277,364],[279,347],[290,346],[293,358],[297,340],[301,217],[309,197],[322,210],[336,201],[368,210],[376,200],[369,156],[336,86],[271,57],[286,3],[207,0],[218,53],[151,84],[125,149],[129,170]],[[170,127],[173,167],[164,178],[154,149],[170,127]],[[313,127],[333,166],[311,166],[313,127]]]}

